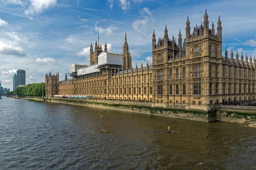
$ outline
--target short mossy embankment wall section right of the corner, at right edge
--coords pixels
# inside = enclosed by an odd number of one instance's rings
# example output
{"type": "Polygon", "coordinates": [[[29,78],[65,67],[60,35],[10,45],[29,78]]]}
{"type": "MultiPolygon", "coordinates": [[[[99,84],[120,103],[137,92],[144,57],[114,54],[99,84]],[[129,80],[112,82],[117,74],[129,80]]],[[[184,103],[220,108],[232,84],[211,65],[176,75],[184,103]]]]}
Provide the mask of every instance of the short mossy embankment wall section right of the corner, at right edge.
{"type": "Polygon", "coordinates": [[[244,124],[256,123],[256,106],[216,105],[216,120],[244,124]]]}

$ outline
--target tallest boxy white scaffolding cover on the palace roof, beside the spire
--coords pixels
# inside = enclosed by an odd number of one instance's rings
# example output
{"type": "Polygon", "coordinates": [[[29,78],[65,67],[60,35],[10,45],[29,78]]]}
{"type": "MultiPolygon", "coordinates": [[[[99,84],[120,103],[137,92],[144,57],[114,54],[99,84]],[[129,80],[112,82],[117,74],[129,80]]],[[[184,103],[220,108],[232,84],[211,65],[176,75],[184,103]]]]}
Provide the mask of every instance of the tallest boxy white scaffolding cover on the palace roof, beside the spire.
{"type": "Polygon", "coordinates": [[[123,55],[102,52],[98,56],[98,65],[122,65],[123,55]]]}

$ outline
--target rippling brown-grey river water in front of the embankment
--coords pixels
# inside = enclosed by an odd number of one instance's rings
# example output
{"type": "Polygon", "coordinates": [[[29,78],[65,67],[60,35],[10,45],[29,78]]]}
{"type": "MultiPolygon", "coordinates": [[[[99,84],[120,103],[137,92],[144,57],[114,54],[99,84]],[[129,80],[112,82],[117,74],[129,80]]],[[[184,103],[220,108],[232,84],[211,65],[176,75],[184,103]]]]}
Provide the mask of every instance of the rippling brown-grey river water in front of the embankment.
{"type": "Polygon", "coordinates": [[[3,97],[0,169],[256,169],[256,129],[3,97]]]}

